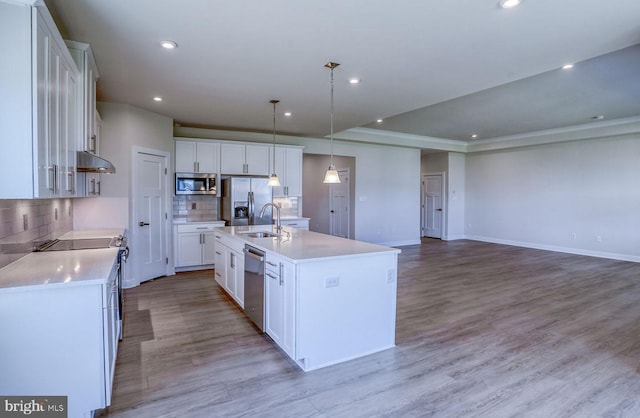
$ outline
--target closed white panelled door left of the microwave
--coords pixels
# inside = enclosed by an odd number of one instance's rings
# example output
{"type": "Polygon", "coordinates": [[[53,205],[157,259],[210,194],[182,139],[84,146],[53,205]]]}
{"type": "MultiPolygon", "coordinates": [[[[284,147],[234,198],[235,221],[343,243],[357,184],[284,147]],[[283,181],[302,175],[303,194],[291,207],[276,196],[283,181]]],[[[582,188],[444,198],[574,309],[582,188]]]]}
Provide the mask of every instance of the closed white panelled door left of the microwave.
{"type": "Polygon", "coordinates": [[[140,282],[166,275],[167,238],[167,158],[138,152],[136,154],[136,193],[133,228],[137,278],[140,282]]]}

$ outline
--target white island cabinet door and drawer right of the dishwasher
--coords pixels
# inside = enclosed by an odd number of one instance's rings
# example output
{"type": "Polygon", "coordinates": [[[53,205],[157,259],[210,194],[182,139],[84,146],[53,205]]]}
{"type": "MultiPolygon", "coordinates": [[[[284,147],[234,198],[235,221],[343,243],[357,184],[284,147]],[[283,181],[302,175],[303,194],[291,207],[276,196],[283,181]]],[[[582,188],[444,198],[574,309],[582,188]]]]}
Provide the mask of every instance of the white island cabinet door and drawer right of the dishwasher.
{"type": "Polygon", "coordinates": [[[267,252],[264,292],[264,330],[288,356],[294,358],[295,265],[267,252]]]}

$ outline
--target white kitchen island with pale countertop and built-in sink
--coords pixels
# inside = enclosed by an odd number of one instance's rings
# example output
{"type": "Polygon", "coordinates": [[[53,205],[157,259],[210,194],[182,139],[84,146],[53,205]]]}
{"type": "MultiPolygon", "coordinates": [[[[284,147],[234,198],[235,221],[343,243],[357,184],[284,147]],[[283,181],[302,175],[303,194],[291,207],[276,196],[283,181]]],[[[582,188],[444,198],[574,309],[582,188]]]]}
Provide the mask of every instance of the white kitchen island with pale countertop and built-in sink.
{"type": "MultiPolygon", "coordinates": [[[[278,233],[265,225],[216,228],[216,239],[232,250],[236,264],[244,245],[265,252],[264,330],[302,370],[395,346],[400,250],[287,227],[278,233]]],[[[216,260],[218,269],[228,265],[216,260]]],[[[216,280],[243,306],[237,269],[232,275],[216,271],[216,280]]]]}

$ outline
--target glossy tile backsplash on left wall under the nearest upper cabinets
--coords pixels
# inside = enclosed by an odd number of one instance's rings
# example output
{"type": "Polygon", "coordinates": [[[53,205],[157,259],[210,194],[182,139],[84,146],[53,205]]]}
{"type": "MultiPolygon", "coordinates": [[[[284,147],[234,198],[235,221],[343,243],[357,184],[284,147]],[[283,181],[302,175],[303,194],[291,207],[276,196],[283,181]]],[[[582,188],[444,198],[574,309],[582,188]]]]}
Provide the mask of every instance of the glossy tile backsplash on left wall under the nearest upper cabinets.
{"type": "Polygon", "coordinates": [[[72,229],[71,199],[0,199],[0,268],[72,229]]]}

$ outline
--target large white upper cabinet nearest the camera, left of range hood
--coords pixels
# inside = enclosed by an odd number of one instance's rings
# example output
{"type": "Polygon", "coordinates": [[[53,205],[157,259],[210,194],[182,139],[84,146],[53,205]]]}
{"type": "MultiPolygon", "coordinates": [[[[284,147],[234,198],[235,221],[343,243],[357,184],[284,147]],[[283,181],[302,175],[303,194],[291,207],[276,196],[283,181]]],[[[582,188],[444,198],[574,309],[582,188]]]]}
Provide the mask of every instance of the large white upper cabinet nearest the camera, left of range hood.
{"type": "Polygon", "coordinates": [[[44,5],[0,1],[0,36],[0,198],[75,196],[78,68],[44,5]]]}

